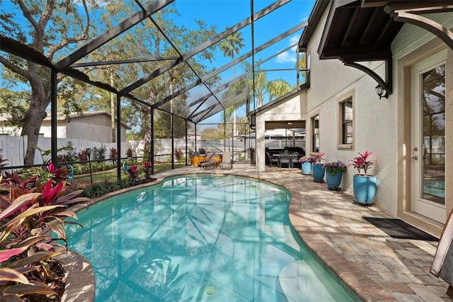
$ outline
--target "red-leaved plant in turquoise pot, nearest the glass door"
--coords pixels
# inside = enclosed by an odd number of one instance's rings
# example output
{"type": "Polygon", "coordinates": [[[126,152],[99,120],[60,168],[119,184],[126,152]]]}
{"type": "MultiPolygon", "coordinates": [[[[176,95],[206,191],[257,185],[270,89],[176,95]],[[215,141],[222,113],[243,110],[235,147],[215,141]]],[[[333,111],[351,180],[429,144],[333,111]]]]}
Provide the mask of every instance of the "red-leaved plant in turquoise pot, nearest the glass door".
{"type": "Polygon", "coordinates": [[[365,151],[360,156],[354,157],[349,166],[357,169],[357,174],[354,175],[352,188],[354,189],[354,197],[356,203],[369,205],[372,203],[374,195],[376,194],[377,177],[368,175],[368,169],[374,164],[374,161],[368,160],[372,152],[365,151]],[[363,174],[360,171],[363,170],[363,174]]]}

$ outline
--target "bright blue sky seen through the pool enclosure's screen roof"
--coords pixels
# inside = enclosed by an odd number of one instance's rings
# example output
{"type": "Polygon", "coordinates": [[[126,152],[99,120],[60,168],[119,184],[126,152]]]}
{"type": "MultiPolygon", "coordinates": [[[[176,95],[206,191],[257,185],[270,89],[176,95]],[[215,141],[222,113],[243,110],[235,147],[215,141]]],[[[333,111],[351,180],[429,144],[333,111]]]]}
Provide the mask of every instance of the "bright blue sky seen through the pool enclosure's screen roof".
{"type": "MultiPolygon", "coordinates": [[[[178,16],[174,17],[175,23],[188,28],[195,28],[195,20],[200,19],[211,26],[216,26],[217,33],[219,33],[226,27],[234,26],[236,23],[248,18],[251,14],[252,6],[253,11],[256,13],[274,2],[275,1],[272,0],[254,0],[253,4],[251,4],[250,0],[176,0],[173,4],[171,4],[171,6],[176,8],[178,11],[178,16]]],[[[244,47],[235,57],[239,57],[240,55],[251,51],[253,47],[256,48],[263,43],[268,42],[271,38],[274,38],[275,36],[284,33],[286,30],[297,26],[299,23],[306,21],[309,18],[314,2],[315,0],[292,0],[276,11],[273,11],[268,15],[263,16],[263,18],[256,20],[253,23],[253,41],[251,39],[251,26],[247,26],[246,28],[239,30],[241,37],[244,39],[244,47]]],[[[100,3],[100,1],[98,1],[98,3],[100,3]]],[[[137,8],[135,11],[139,10],[137,4],[135,4],[133,0],[125,0],[124,3],[125,5],[130,4],[135,6],[137,8]]],[[[142,3],[146,6],[150,4],[151,1],[142,1],[142,3]]],[[[2,9],[8,11],[11,7],[11,1],[2,1],[2,9]]],[[[80,9],[82,9],[81,6],[80,9]]],[[[23,16],[21,16],[20,12],[17,12],[15,19],[19,21],[19,23],[21,22],[20,20],[23,19],[23,16]]],[[[96,18],[92,18],[92,22],[95,23],[96,18]]],[[[276,52],[280,52],[280,50],[285,49],[285,47],[289,47],[290,45],[297,43],[301,35],[302,30],[298,30],[296,33],[292,33],[292,35],[289,35],[279,43],[268,47],[266,50],[256,53],[254,55],[254,62],[266,60],[276,52]]],[[[215,69],[222,67],[230,61],[231,58],[224,57],[224,55],[219,52],[215,56],[214,63],[210,68],[215,69]]],[[[249,62],[251,61],[249,60],[249,62]]],[[[287,71],[283,69],[294,68],[295,62],[296,53],[294,49],[291,49],[263,63],[261,68],[266,70],[275,70],[267,73],[268,80],[285,79],[289,82],[289,84],[294,85],[296,83],[296,71],[287,71]]],[[[241,74],[241,70],[237,69],[238,67],[236,67],[235,70],[236,76],[237,74],[241,74]]],[[[221,75],[223,82],[229,82],[233,79],[232,69],[223,72],[221,75]]],[[[193,97],[197,97],[194,91],[191,92],[193,97]]],[[[245,110],[239,113],[239,116],[245,116],[245,110]]],[[[218,117],[212,122],[218,123],[218,117]]]]}

